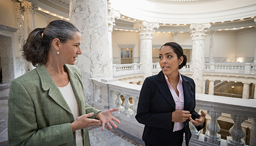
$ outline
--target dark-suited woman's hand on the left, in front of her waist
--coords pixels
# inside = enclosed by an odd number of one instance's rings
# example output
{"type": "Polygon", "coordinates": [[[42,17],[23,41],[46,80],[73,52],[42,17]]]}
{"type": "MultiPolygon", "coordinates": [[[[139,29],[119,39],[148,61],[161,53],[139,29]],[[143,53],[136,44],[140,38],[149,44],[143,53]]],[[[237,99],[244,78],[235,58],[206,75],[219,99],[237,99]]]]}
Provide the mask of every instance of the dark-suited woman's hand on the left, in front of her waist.
{"type": "Polygon", "coordinates": [[[187,110],[176,110],[172,114],[172,122],[185,122],[188,118],[191,117],[191,114],[187,110]]]}

